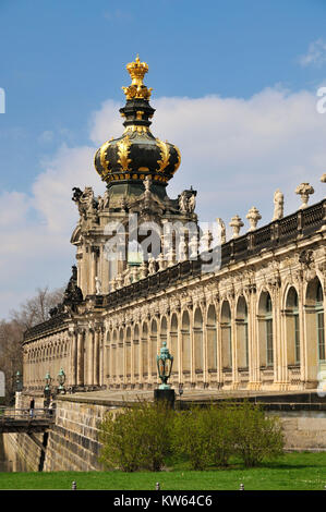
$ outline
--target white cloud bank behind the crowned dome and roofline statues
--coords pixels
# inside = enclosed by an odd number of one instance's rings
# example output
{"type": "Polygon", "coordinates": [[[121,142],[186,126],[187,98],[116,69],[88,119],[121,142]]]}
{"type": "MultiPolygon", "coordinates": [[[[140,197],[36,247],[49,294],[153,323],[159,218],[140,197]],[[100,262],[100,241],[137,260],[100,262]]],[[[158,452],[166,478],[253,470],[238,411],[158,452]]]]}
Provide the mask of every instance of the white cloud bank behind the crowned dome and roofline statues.
{"type": "MultiPolygon", "coordinates": [[[[311,203],[325,196],[319,176],[326,167],[326,114],[316,112],[317,98],[307,93],[270,88],[244,100],[218,96],[153,98],[155,136],[179,146],[182,163],[168,186],[170,197],[192,185],[198,191],[203,221],[256,206],[263,219],[273,217],[276,188],[285,193],[286,214],[300,206],[294,194],[301,182],[315,188],[311,203]]],[[[70,277],[74,248],[70,235],[77,220],[72,187],[94,186],[102,193],[93,159],[96,148],[123,131],[121,103],[106,101],[90,115],[94,146],[62,146],[43,161],[31,194],[4,193],[0,202],[0,317],[16,306],[15,297],[33,295],[37,287],[61,287],[70,277]],[[13,295],[13,291],[15,294],[13,295]]]]}

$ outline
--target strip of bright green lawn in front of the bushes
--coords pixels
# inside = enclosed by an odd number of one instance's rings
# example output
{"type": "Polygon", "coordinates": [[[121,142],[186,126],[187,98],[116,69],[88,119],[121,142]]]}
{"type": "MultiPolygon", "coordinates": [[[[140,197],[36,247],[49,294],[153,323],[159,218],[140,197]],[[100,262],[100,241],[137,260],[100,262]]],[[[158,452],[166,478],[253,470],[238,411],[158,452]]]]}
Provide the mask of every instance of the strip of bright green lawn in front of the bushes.
{"type": "Polygon", "coordinates": [[[324,490],[326,453],[286,453],[277,462],[246,470],[232,464],[227,470],[189,471],[176,467],[159,473],[137,472],[53,472],[0,473],[0,489],[71,489],[79,490],[324,490]]]}

